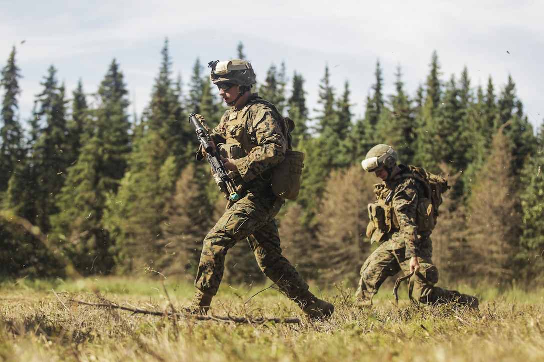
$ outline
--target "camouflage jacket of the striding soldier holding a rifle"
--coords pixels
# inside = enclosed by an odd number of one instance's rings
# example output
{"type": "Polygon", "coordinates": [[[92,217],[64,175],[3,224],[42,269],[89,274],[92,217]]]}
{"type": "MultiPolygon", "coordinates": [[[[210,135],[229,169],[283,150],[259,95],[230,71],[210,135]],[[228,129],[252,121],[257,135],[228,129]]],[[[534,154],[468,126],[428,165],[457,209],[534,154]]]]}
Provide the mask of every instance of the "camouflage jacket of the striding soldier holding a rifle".
{"type": "Polygon", "coordinates": [[[270,184],[270,168],[285,158],[282,123],[274,105],[255,93],[242,109],[228,109],[210,135],[216,145],[225,143],[222,154],[235,160],[244,183],[270,184]]]}

